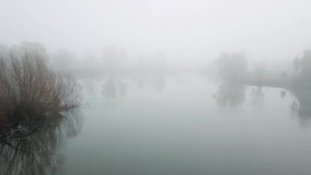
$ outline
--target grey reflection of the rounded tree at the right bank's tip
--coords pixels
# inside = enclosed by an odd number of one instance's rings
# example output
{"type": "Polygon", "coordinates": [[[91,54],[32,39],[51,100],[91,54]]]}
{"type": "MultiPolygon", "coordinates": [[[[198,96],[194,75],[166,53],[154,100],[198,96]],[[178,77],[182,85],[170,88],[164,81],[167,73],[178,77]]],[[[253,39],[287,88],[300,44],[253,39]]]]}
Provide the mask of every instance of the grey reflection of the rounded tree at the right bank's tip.
{"type": "Polygon", "coordinates": [[[219,106],[238,106],[245,101],[245,91],[245,85],[223,82],[219,85],[217,93],[213,94],[213,98],[219,106]]]}

